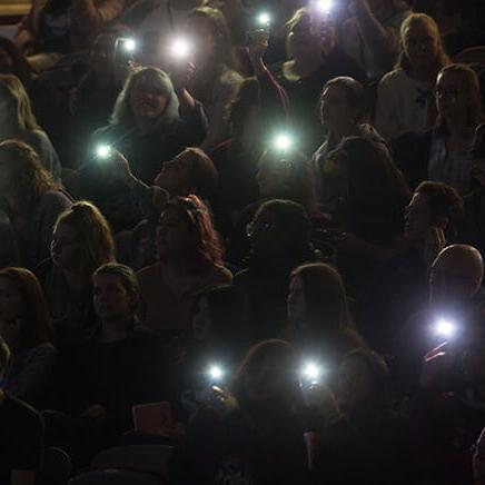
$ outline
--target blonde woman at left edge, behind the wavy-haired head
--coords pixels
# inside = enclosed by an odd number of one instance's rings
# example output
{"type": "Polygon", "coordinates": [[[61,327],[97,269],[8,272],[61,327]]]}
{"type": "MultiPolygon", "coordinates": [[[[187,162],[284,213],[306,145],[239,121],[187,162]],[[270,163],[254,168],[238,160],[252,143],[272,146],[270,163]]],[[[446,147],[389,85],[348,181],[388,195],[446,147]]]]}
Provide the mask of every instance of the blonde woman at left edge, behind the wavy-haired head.
{"type": "Polygon", "coordinates": [[[59,157],[49,137],[37,123],[29,95],[12,75],[0,75],[0,141],[18,139],[32,147],[55,180],[60,180],[59,157]]]}

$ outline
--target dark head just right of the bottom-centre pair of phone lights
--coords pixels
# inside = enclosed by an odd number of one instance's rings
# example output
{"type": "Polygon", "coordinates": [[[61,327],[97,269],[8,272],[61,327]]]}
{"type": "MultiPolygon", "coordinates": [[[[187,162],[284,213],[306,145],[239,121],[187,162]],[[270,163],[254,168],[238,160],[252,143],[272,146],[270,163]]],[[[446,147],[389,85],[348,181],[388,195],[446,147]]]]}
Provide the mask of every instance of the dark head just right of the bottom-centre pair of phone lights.
{"type": "Polygon", "coordinates": [[[384,359],[365,348],[347,354],[338,370],[336,397],[340,409],[350,417],[387,410],[390,376],[384,359]]]}

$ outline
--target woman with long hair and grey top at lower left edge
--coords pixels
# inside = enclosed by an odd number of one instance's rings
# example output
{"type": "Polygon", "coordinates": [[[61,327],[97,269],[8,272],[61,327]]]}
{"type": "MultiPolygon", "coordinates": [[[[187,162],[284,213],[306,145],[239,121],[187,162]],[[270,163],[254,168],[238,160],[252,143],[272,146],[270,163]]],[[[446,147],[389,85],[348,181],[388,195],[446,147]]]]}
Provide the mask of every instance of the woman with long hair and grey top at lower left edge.
{"type": "Polygon", "coordinates": [[[39,405],[51,378],[56,348],[42,287],[28,269],[0,270],[0,335],[12,353],[1,388],[39,405]]]}

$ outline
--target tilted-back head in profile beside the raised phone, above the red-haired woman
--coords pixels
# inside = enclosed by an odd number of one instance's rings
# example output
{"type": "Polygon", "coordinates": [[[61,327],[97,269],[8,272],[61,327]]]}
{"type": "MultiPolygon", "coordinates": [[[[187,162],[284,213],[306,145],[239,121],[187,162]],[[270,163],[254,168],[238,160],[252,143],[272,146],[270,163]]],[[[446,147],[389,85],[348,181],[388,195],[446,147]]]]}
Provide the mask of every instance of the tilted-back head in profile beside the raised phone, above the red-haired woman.
{"type": "Polygon", "coordinates": [[[204,150],[194,147],[165,161],[154,184],[168,190],[172,197],[196,194],[206,199],[215,194],[217,182],[214,161],[204,150]]]}

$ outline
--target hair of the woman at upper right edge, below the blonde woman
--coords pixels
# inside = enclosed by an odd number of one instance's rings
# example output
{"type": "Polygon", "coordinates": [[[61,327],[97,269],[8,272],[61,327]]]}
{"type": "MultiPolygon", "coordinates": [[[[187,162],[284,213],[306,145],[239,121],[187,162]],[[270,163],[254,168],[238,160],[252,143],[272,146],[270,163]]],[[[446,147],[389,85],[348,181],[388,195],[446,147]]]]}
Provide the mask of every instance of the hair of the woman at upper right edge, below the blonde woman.
{"type": "MultiPolygon", "coordinates": [[[[484,121],[484,115],[482,110],[482,93],[479,89],[479,80],[476,72],[468,66],[462,63],[455,63],[444,67],[439,76],[446,73],[455,73],[459,77],[461,90],[466,93],[466,126],[463,127],[463,135],[473,135],[476,127],[484,121]]],[[[436,118],[436,131],[442,135],[447,135],[446,118],[438,111],[436,118]]]]}

